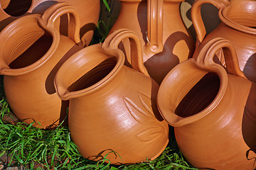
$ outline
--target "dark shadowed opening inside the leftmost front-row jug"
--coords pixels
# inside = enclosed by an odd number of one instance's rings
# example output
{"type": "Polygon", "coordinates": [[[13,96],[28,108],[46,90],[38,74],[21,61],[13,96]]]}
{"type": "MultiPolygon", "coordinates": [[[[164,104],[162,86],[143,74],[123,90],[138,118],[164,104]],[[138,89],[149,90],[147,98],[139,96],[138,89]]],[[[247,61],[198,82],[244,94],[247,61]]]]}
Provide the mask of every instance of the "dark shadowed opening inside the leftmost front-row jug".
{"type": "MultiPolygon", "coordinates": [[[[31,38],[31,39],[37,39],[37,38],[31,38]]],[[[24,42],[20,43],[21,48],[23,48],[22,43],[24,42]]],[[[30,45],[26,50],[24,50],[24,52],[22,52],[21,55],[18,55],[18,57],[13,56],[14,58],[16,57],[16,59],[11,61],[11,63],[9,64],[9,67],[11,69],[20,69],[23,67],[27,67],[37,62],[38,60],[40,60],[41,57],[43,57],[46,54],[46,52],[48,52],[48,50],[50,49],[50,46],[53,43],[53,37],[48,33],[44,33],[35,42],[25,42],[25,43],[26,44],[31,43],[32,45],[30,45]]],[[[16,52],[13,52],[13,53],[16,53],[16,52]]]]}

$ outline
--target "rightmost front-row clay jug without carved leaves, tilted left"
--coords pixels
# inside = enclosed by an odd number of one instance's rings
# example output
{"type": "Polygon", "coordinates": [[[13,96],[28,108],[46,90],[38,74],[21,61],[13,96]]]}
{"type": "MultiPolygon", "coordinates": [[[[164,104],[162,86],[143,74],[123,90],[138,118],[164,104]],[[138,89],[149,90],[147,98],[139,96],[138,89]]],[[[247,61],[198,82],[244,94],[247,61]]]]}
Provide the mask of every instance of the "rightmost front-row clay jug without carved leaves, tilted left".
{"type": "Polygon", "coordinates": [[[228,40],[206,43],[198,57],[166,75],[158,94],[161,115],[174,126],[178,147],[198,169],[255,169],[256,84],[239,68],[228,40]],[[226,69],[213,62],[223,49],[226,69]]]}

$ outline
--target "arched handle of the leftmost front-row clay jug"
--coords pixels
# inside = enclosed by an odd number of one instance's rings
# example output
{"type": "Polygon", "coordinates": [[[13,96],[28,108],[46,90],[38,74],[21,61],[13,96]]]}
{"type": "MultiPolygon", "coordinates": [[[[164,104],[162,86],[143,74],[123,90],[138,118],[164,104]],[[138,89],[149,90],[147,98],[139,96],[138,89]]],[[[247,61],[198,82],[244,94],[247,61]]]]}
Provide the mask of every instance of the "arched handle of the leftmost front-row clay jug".
{"type": "Polygon", "coordinates": [[[58,20],[60,16],[69,13],[70,21],[68,23],[68,37],[71,38],[76,43],[80,42],[80,19],[78,16],[78,12],[75,10],[74,6],[66,2],[59,2],[50,6],[43,16],[39,19],[39,23],[43,28],[55,29],[55,22],[58,20]]]}

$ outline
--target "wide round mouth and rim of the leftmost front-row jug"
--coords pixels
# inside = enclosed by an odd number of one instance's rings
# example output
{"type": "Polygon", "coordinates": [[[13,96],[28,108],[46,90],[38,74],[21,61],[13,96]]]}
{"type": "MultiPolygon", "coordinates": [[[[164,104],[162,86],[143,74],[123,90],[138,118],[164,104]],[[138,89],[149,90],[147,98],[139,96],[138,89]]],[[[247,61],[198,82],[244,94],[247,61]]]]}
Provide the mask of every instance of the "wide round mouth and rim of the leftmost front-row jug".
{"type": "Polygon", "coordinates": [[[39,14],[23,16],[0,33],[0,74],[17,76],[32,72],[47,62],[58,47],[54,30],[38,25],[39,14]]]}

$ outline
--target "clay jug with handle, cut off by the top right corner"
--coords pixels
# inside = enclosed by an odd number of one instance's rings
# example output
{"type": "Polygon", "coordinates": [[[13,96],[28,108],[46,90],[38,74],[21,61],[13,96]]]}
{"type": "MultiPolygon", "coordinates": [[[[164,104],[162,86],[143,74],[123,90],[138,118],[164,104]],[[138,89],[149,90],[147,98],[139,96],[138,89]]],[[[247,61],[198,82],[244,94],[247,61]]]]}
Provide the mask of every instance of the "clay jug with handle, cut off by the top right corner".
{"type": "MultiPolygon", "coordinates": [[[[247,79],[256,83],[256,1],[197,0],[191,8],[191,18],[197,35],[196,46],[218,37],[230,40],[238,54],[240,69],[247,79]],[[207,36],[200,12],[203,4],[216,6],[221,21],[207,36]]],[[[222,57],[219,60],[225,65],[222,57]]]]}

